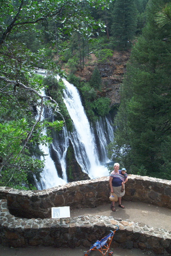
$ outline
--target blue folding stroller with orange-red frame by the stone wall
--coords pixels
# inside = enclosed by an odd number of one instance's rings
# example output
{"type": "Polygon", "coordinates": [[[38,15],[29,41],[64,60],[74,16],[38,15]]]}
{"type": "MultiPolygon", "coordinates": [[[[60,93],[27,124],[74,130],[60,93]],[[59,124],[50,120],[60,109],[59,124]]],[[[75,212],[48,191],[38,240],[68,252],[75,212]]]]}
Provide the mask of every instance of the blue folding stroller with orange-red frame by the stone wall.
{"type": "MultiPolygon", "coordinates": [[[[117,226],[117,225],[116,225],[117,226]]],[[[108,256],[112,256],[113,252],[109,251],[111,241],[113,239],[114,233],[119,229],[119,226],[117,226],[117,229],[115,231],[111,231],[111,233],[105,237],[103,237],[100,241],[97,240],[91,248],[87,251],[84,252],[84,256],[88,256],[88,252],[91,250],[97,250],[101,252],[103,255],[106,255],[108,252],[108,256]],[[103,248],[102,248],[103,247],[103,248]]]]}

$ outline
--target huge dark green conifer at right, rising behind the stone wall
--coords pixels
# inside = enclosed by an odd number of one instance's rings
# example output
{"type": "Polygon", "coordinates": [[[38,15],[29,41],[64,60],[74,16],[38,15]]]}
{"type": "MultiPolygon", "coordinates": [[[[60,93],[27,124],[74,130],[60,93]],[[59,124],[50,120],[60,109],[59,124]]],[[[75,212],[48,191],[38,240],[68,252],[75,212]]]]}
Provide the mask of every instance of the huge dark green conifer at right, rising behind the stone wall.
{"type": "Polygon", "coordinates": [[[170,179],[171,42],[163,40],[169,34],[167,28],[158,28],[154,22],[157,4],[161,1],[151,1],[149,22],[127,64],[114,148],[133,173],[141,170],[170,179]]]}

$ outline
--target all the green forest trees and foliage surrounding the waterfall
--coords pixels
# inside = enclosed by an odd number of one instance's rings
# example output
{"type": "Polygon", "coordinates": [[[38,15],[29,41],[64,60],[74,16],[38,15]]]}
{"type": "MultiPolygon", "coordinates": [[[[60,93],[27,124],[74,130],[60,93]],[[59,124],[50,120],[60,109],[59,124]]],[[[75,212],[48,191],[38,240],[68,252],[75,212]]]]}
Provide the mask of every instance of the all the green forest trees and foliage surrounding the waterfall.
{"type": "Polygon", "coordinates": [[[34,188],[44,167],[38,145],[52,142],[50,129],[72,129],[62,82],[55,78],[66,76],[62,67],[91,122],[111,111],[109,98],[101,96],[98,65],[89,81],[75,74],[90,52],[105,64],[113,50],[131,57],[109,154],[129,173],[171,179],[170,1],[1,0],[0,186],[34,188]],[[35,67],[48,77],[36,75],[35,67]],[[44,107],[53,110],[55,122],[41,119],[44,107]]]}

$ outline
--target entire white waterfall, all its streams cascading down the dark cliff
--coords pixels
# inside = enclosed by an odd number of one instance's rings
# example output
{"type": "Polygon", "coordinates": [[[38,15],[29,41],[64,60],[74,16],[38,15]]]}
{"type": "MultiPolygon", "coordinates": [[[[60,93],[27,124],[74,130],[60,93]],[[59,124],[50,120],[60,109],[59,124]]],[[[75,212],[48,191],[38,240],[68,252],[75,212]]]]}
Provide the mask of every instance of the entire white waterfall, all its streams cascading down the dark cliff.
{"type": "MultiPolygon", "coordinates": [[[[41,72],[38,70],[36,73],[46,75],[43,70],[41,72]]],[[[57,76],[57,79],[59,78],[57,76]]],[[[87,173],[91,179],[109,175],[105,163],[109,162],[106,146],[113,140],[111,117],[99,118],[94,125],[90,124],[77,88],[66,79],[62,80],[65,84],[63,100],[72,119],[73,130],[68,132],[64,126],[60,132],[52,131],[52,144],[50,146],[40,145],[40,149],[46,154],[44,157],[45,167],[41,173],[42,178],[40,182],[37,182],[37,188],[40,190],[67,183],[66,152],[69,139],[72,142],[76,160],[83,172],[87,173]]],[[[53,121],[51,111],[47,112],[46,108],[44,108],[42,118],[53,121]]]]}

